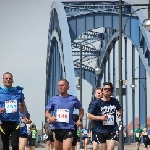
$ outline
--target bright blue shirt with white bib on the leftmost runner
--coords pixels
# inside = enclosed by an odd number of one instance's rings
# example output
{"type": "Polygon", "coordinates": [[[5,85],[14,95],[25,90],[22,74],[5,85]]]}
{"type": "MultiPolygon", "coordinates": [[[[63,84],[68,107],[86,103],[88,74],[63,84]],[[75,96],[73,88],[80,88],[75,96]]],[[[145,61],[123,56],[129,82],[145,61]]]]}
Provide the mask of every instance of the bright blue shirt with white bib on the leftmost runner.
{"type": "Polygon", "coordinates": [[[4,108],[4,113],[0,115],[0,120],[19,122],[19,103],[24,102],[22,87],[0,87],[0,108],[4,108]]]}

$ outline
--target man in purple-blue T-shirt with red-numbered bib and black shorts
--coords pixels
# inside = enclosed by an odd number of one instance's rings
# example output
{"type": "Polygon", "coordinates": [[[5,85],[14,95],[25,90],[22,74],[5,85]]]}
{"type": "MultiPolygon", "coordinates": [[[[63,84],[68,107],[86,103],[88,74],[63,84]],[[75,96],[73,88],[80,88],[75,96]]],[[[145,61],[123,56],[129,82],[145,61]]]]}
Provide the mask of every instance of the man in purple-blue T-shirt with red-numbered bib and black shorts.
{"type": "Polygon", "coordinates": [[[58,90],[59,95],[52,97],[46,106],[46,117],[52,122],[51,127],[55,133],[55,150],[71,149],[75,134],[73,111],[79,109],[76,124],[80,125],[84,110],[77,97],[68,94],[69,82],[66,79],[59,80],[58,90]]]}

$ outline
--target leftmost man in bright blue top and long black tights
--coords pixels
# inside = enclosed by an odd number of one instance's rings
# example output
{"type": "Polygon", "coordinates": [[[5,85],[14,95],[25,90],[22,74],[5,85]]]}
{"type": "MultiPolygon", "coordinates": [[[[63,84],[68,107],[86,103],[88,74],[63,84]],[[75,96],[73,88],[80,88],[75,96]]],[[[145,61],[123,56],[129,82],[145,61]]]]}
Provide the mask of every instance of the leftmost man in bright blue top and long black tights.
{"type": "MultiPolygon", "coordinates": [[[[25,118],[26,105],[23,88],[12,87],[13,75],[9,72],[3,74],[4,87],[0,87],[0,130],[3,150],[9,150],[9,137],[11,135],[12,150],[18,150],[19,144],[19,103],[23,108],[25,118]]],[[[25,121],[27,119],[25,118],[25,121]]]]}

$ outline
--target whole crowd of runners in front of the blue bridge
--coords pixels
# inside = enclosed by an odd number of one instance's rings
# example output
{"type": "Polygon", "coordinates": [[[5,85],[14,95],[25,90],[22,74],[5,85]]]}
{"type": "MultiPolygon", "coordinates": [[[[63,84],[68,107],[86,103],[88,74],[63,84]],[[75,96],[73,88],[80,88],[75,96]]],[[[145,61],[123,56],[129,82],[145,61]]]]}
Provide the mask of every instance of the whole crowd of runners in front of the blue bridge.
{"type": "MultiPolygon", "coordinates": [[[[12,87],[13,75],[9,72],[3,74],[3,83],[4,87],[0,87],[0,133],[3,150],[9,150],[9,141],[12,150],[34,150],[36,139],[40,142],[41,137],[30,119],[23,88],[12,87]]],[[[45,108],[47,122],[43,133],[47,150],[79,150],[81,140],[84,150],[87,150],[88,143],[93,145],[93,150],[114,150],[119,130],[116,117],[121,117],[122,108],[119,101],[112,96],[113,84],[104,82],[102,88],[95,89],[95,100],[89,104],[86,113],[91,124],[89,129],[82,124],[84,109],[78,98],[68,93],[69,88],[66,79],[59,80],[59,95],[53,96],[45,108]],[[78,114],[74,113],[77,109],[78,114]]],[[[134,132],[137,149],[143,137],[147,150],[150,128],[137,128],[134,132]]],[[[123,135],[125,138],[125,132],[123,135]]]]}

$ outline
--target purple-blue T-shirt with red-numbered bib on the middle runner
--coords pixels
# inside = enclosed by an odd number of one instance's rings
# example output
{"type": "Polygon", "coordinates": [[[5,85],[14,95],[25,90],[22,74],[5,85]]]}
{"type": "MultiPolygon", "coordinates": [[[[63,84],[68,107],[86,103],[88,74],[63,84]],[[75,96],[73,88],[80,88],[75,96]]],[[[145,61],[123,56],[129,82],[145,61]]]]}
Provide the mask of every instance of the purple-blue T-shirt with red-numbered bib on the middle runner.
{"type": "Polygon", "coordinates": [[[81,107],[80,101],[75,96],[52,97],[46,106],[46,110],[53,112],[57,119],[57,122],[51,123],[52,129],[74,129],[73,111],[81,107]]]}

